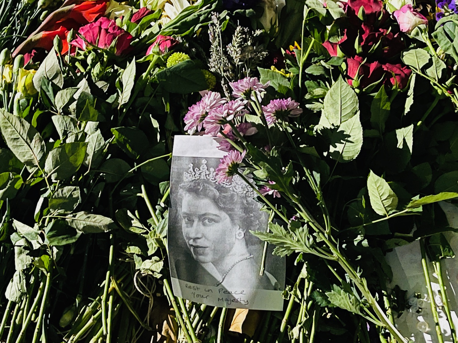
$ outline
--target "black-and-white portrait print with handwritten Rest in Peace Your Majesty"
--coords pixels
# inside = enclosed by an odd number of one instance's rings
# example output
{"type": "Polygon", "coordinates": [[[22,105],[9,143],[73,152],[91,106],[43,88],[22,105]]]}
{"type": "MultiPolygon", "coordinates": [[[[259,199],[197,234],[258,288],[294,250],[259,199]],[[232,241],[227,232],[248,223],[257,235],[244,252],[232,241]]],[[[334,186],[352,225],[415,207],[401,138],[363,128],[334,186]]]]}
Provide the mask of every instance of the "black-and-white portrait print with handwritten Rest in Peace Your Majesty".
{"type": "Polygon", "coordinates": [[[268,213],[238,176],[218,183],[225,152],[213,137],[175,136],[168,248],[174,294],[214,306],[281,310],[284,258],[250,233],[265,231],[268,213]]]}

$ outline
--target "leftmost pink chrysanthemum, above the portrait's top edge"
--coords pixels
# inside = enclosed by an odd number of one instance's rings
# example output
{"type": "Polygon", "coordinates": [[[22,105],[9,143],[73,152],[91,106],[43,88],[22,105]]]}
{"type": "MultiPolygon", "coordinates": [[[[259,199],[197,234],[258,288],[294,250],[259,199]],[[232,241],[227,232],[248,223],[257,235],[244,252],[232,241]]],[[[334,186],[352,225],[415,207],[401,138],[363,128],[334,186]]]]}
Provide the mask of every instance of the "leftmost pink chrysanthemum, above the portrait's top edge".
{"type": "Polygon", "coordinates": [[[226,99],[221,98],[218,92],[209,91],[205,94],[201,101],[189,107],[188,113],[186,113],[184,121],[186,123],[185,130],[188,134],[194,134],[194,132],[202,129],[203,120],[207,117],[208,113],[215,107],[221,106],[226,102],[226,99]]]}

